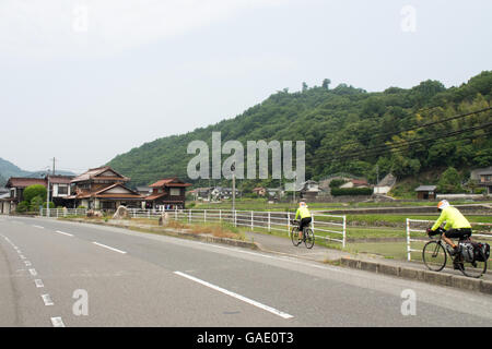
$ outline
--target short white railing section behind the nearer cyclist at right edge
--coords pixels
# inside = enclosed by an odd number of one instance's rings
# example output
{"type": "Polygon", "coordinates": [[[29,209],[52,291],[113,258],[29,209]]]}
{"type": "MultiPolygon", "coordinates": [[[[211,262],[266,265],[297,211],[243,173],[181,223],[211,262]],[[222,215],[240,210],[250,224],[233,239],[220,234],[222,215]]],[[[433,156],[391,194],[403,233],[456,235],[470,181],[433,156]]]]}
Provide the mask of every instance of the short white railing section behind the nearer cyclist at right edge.
{"type": "MultiPolygon", "coordinates": [[[[426,239],[426,229],[434,224],[433,220],[419,220],[407,218],[407,260],[412,260],[412,252],[419,252],[422,255],[422,249],[430,240],[426,239]]],[[[485,242],[492,241],[492,224],[488,222],[472,222],[473,238],[481,238],[485,242]]],[[[419,261],[422,260],[420,256],[419,261]]]]}

